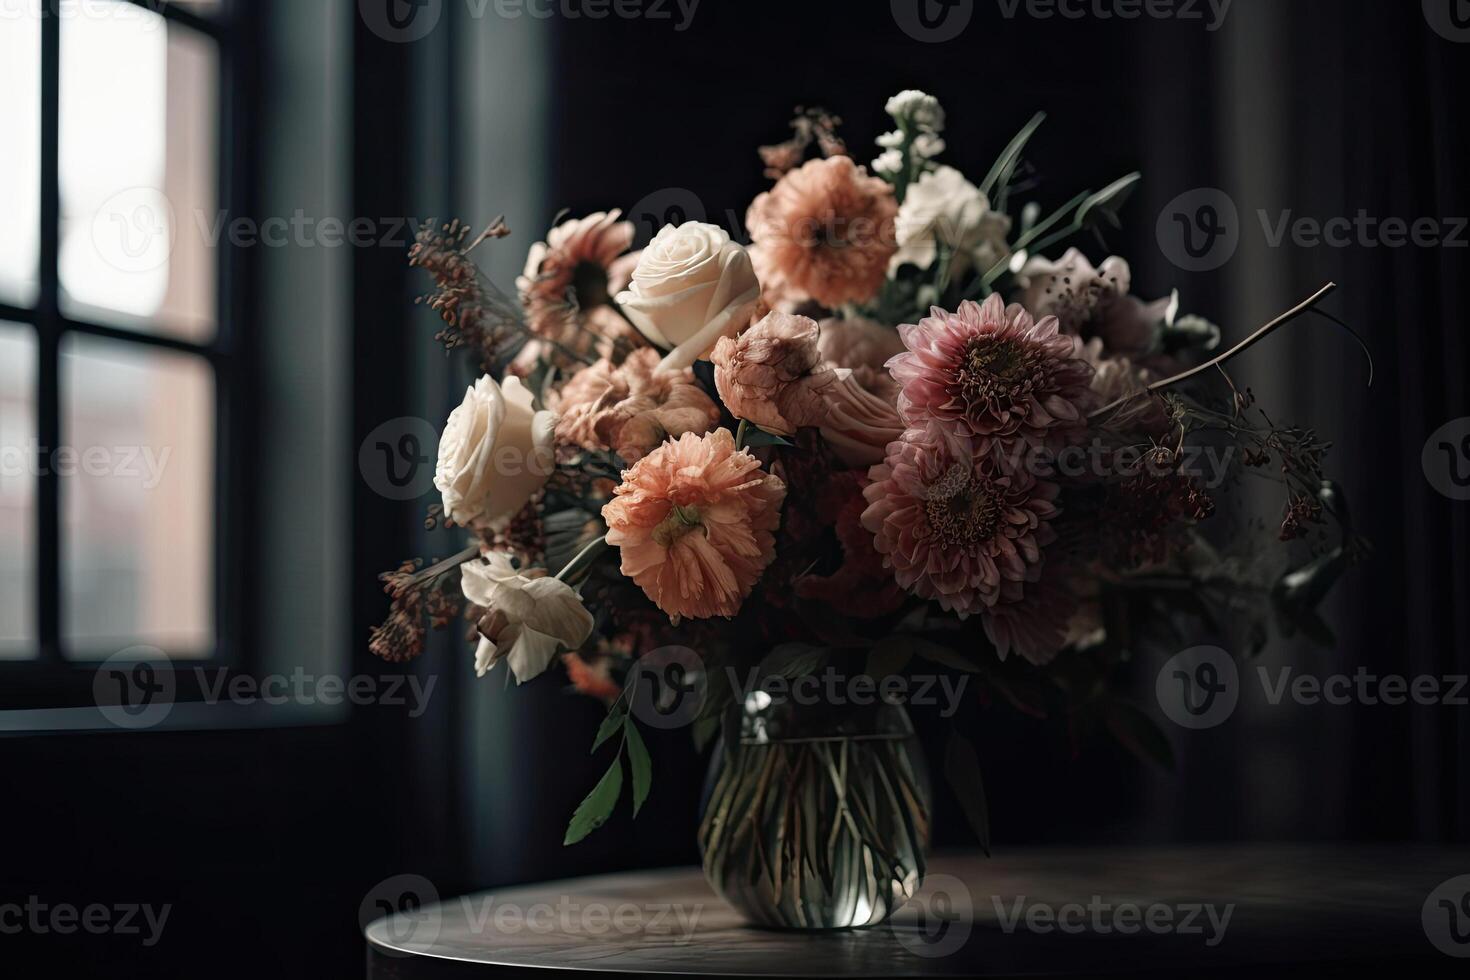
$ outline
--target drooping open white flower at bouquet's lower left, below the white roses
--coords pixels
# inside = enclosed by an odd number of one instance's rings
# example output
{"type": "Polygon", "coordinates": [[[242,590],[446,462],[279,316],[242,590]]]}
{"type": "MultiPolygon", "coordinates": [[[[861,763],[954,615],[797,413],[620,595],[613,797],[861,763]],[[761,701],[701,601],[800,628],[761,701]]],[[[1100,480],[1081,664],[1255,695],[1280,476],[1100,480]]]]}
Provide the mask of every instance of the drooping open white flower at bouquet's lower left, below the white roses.
{"type": "Polygon", "coordinates": [[[460,592],[485,610],[475,651],[481,677],[504,660],[516,683],[525,683],[551,666],[560,646],[581,646],[592,632],[592,614],[572,586],[520,574],[498,552],[460,566],[460,592]]]}

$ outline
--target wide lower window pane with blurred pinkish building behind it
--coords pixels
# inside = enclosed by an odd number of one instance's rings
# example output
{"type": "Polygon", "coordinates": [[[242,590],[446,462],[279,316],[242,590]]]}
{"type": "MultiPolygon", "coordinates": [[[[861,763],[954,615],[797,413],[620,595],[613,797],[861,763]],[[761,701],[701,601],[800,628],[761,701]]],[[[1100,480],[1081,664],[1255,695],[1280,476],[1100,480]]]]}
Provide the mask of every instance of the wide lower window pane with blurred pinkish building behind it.
{"type": "Polygon", "coordinates": [[[66,646],[215,645],[215,379],[190,354],[69,335],[62,348],[66,646]]]}

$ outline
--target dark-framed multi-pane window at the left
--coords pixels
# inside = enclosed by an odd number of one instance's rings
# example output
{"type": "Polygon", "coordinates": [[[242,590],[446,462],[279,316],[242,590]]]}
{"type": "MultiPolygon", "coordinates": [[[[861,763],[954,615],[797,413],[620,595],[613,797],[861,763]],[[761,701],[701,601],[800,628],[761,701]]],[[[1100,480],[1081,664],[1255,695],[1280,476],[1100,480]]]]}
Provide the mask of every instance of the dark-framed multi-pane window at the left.
{"type": "Polygon", "coordinates": [[[90,683],[140,645],[225,658],[248,6],[0,0],[7,679],[90,683]]]}

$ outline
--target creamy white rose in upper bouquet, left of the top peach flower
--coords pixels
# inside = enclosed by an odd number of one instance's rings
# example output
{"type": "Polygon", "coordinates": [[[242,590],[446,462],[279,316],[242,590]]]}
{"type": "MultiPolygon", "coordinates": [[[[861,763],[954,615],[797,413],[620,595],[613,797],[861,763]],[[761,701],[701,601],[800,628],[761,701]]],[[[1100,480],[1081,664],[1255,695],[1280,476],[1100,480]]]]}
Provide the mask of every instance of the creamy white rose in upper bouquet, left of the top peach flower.
{"type": "Polygon", "coordinates": [[[669,350],[659,370],[707,359],[716,341],[748,325],[759,300],[750,254],[703,222],[660,228],[638,259],[632,285],[617,294],[634,326],[669,350]]]}

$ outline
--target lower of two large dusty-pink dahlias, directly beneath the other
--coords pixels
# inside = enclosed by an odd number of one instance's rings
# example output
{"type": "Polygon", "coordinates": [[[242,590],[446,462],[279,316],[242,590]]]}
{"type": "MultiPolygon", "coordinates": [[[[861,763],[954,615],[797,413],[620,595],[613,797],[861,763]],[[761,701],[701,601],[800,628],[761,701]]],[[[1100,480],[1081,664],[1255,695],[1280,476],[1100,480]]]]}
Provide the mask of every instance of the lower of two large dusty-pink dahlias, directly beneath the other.
{"type": "Polygon", "coordinates": [[[869,472],[863,527],[898,585],[960,617],[1041,573],[1057,486],[1003,470],[938,425],[907,430],[869,472]]]}

